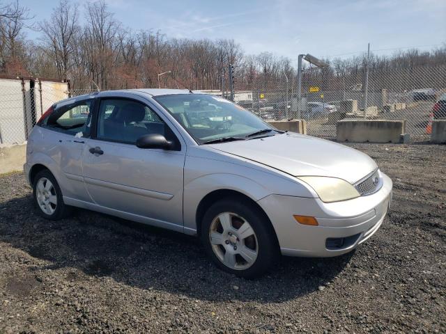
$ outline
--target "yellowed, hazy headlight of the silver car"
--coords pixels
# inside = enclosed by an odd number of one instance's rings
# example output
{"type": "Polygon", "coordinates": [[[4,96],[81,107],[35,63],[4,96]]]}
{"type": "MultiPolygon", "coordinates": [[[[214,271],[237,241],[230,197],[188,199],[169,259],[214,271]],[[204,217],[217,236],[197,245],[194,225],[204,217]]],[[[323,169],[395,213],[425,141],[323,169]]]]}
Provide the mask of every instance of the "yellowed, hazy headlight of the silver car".
{"type": "Polygon", "coordinates": [[[323,202],[339,202],[360,197],[354,186],[337,177],[300,176],[298,179],[309,184],[323,202]]]}

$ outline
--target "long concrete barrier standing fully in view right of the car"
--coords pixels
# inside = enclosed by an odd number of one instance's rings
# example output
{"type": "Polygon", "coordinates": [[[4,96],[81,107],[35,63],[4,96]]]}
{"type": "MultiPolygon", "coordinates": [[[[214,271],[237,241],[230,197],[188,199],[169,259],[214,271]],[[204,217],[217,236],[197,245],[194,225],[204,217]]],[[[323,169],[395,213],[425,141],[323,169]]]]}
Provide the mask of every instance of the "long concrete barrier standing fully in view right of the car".
{"type": "Polygon", "coordinates": [[[403,143],[406,120],[339,120],[336,125],[337,141],[356,143],[403,143]]]}

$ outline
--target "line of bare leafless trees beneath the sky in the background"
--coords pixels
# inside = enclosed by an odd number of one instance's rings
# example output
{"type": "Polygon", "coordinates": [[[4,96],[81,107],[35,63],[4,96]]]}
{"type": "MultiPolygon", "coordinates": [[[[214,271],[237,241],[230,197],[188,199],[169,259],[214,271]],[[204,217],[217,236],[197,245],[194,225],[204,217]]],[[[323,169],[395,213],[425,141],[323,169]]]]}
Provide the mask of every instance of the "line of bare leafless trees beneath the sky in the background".
{"type": "MultiPolygon", "coordinates": [[[[229,88],[228,66],[232,64],[236,88],[277,88],[277,83],[284,85],[286,81],[290,90],[295,86],[297,70],[290,58],[271,52],[245,54],[231,39],[178,39],[160,31],[132,31],[116,19],[105,1],[86,2],[80,22],[79,9],[68,0],[61,0],[43,21],[33,17],[18,0],[3,5],[0,2],[0,74],[70,79],[72,88],[221,90],[229,88]],[[40,38],[29,40],[27,29],[39,31],[40,38]],[[160,77],[163,72],[167,73],[160,77]]],[[[304,64],[304,89],[312,84],[325,90],[363,84],[365,54],[326,62],[330,66],[324,69],[304,64]]],[[[420,69],[429,68],[433,69],[432,82],[413,80],[406,86],[445,87],[445,73],[436,74],[434,70],[445,64],[446,46],[431,51],[410,49],[392,56],[372,54],[369,72],[372,79],[376,76],[377,86],[387,88],[407,79],[410,73],[422,77],[420,69]],[[382,73],[390,74],[380,77],[382,73]]],[[[399,89],[410,88],[400,84],[399,89]]]]}

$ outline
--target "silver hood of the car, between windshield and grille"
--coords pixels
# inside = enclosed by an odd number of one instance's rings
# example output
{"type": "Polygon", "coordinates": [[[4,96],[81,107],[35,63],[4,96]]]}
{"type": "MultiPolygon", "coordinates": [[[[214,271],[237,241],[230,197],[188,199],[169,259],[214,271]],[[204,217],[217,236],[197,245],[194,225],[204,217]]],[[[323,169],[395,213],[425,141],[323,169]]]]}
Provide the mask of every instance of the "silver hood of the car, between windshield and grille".
{"type": "Polygon", "coordinates": [[[367,154],[346,145],[291,132],[209,146],[293,176],[339,177],[351,184],[377,168],[367,154]]]}

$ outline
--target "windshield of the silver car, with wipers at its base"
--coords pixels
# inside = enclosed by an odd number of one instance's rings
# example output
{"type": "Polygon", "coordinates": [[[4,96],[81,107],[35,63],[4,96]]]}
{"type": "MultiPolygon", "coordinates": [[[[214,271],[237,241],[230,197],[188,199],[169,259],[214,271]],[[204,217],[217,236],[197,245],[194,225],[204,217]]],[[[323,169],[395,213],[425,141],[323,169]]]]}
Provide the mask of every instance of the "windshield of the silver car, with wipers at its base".
{"type": "Polygon", "coordinates": [[[268,123],[237,104],[206,94],[155,97],[164,109],[199,143],[253,138],[252,134],[276,134],[268,123]]]}

